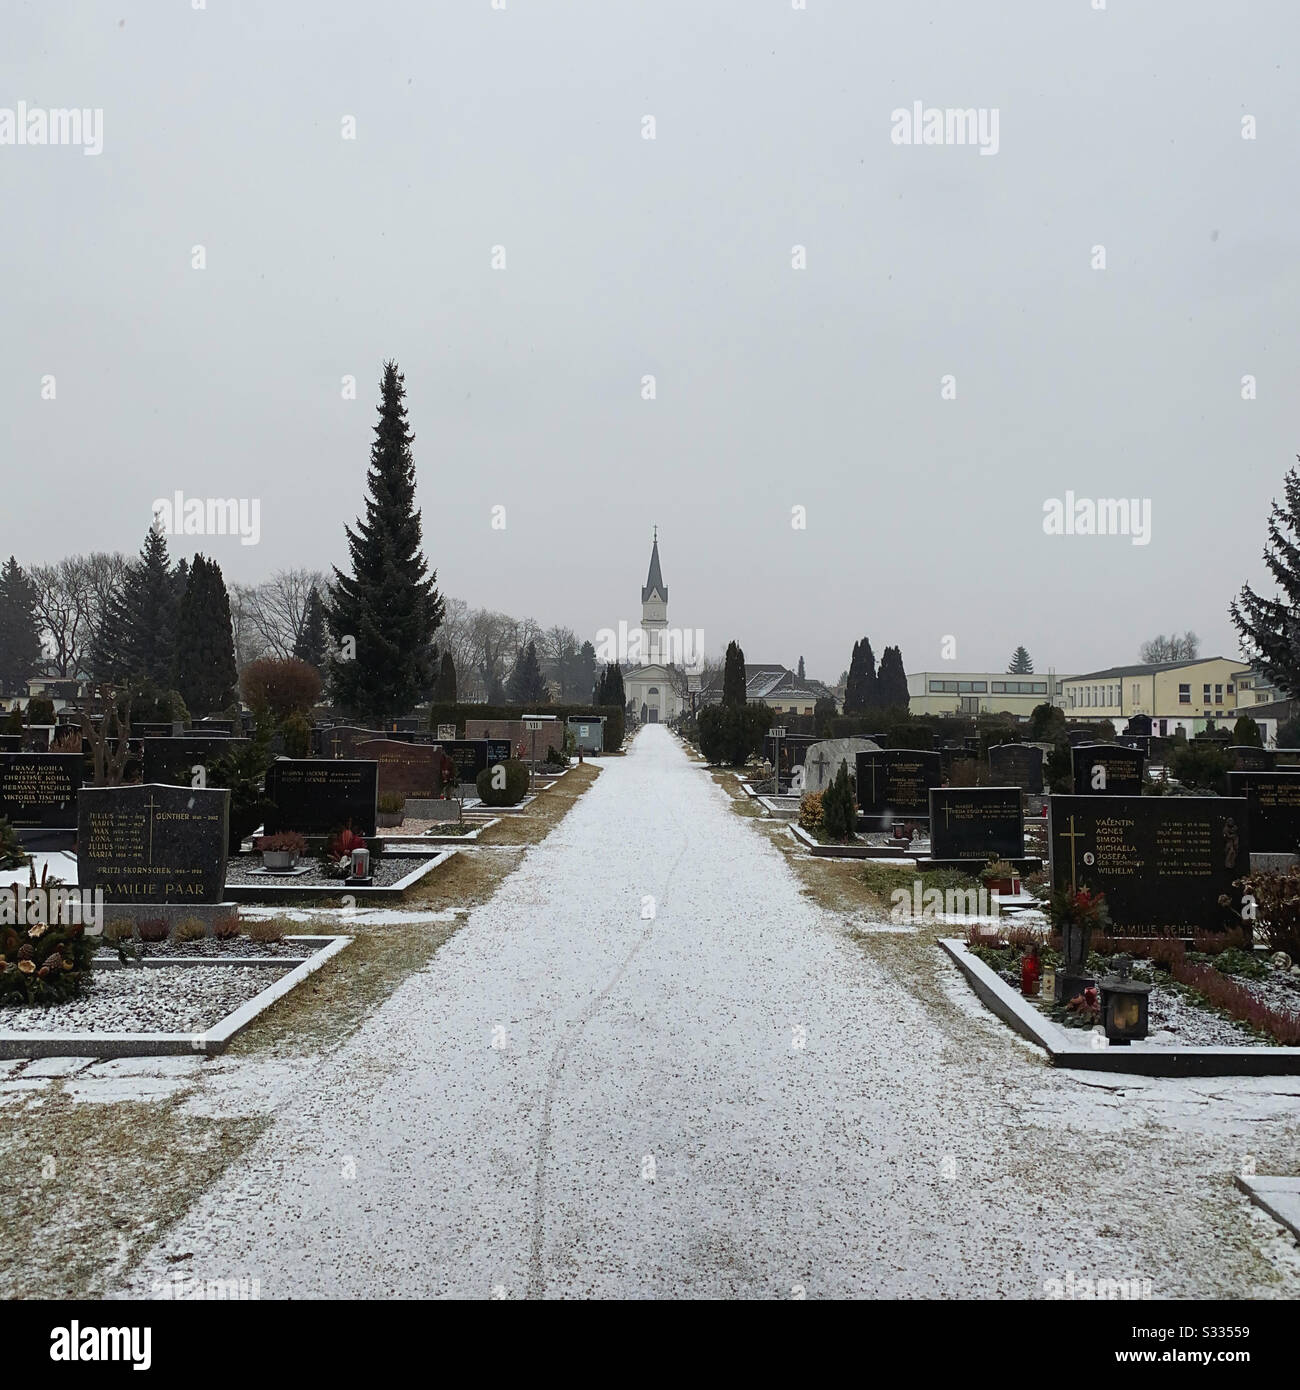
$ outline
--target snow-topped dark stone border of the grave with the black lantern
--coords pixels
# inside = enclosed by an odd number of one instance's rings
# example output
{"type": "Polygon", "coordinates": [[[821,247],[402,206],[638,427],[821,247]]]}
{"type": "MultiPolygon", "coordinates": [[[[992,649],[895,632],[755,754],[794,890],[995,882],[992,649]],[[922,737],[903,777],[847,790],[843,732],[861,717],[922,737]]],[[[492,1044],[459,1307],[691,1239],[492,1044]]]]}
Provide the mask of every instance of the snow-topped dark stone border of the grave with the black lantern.
{"type": "Polygon", "coordinates": [[[1130,1072],[1139,1076],[1300,1076],[1300,1047],[1094,1047],[1091,1033],[1064,1029],[1036,1009],[1014,986],[972,955],[965,941],[941,937],[979,999],[1021,1037],[1047,1054],[1053,1066],[1079,1072],[1130,1072]],[[1089,1041],[1076,1041],[1080,1034],[1089,1041]]]}

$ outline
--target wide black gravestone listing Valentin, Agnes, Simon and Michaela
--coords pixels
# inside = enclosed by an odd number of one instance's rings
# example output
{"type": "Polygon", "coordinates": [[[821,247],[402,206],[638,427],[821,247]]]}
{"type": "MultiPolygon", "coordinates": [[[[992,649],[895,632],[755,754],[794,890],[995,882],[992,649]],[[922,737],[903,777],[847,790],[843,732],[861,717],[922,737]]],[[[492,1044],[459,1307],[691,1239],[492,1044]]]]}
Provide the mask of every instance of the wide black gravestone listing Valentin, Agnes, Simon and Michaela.
{"type": "MultiPolygon", "coordinates": [[[[1050,796],[1053,888],[1105,894],[1116,929],[1222,931],[1250,867],[1239,796],[1050,796]]],[[[1116,931],[1116,934],[1119,934],[1116,931]]]]}

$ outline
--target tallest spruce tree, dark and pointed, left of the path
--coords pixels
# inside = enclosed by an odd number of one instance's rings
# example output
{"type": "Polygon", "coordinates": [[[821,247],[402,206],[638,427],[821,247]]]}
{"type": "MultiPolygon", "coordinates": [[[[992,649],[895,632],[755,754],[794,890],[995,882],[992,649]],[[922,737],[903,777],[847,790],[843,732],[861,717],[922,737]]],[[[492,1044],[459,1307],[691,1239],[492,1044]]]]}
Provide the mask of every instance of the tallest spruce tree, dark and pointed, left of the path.
{"type": "Polygon", "coordinates": [[[444,610],[438,575],[420,550],[405,398],[398,364],[384,363],[366,516],[356,530],[346,528],[352,573],[335,569],[327,613],[338,653],[328,662],[334,699],[373,721],[405,714],[432,685],[434,634],[444,610]]]}

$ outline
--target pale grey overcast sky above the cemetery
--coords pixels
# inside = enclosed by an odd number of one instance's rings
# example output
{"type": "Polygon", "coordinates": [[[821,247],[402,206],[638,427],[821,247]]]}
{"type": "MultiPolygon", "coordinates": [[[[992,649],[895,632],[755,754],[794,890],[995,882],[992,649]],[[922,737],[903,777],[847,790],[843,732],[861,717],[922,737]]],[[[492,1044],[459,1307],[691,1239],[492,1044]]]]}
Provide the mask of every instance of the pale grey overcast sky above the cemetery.
{"type": "Polygon", "coordinates": [[[863,632],[1236,655],[1300,450],[1300,6],[1093,4],[4,0],[0,107],[103,152],[0,146],[0,550],[135,552],[181,489],[260,500],[172,542],[228,582],[338,562],[395,357],[474,606],[635,623],[658,523],[673,626],[829,680],[863,632]],[[916,101],[997,153],[894,143],[916,101]],[[1150,543],[1044,535],[1066,491],[1150,543]]]}

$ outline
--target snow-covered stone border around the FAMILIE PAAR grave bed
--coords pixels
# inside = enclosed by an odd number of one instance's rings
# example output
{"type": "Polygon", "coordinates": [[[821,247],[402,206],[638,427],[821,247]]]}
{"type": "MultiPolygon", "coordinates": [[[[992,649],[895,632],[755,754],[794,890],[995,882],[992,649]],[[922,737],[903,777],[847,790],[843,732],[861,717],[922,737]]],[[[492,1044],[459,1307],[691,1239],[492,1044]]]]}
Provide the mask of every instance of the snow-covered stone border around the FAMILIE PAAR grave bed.
{"type": "MultiPolygon", "coordinates": [[[[246,999],[224,1019],[218,1019],[204,1033],[0,1033],[0,1061],[38,1056],[93,1056],[99,1061],[114,1056],[217,1056],[229,1047],[231,1040],[242,1033],[259,1015],[264,1013],[286,994],[295,990],[307,976],[314,974],[339,951],[352,945],[353,938],[345,935],[285,937],[285,941],[324,942],[307,959],[300,960],[278,980],[246,999]]],[[[285,965],[292,956],[279,956],[274,963],[285,965]]],[[[231,965],[234,960],[213,958],[150,960],[146,965],[181,965],[190,970],[210,965],[231,965]]],[[[238,958],[239,965],[250,965],[246,956],[238,958]]],[[[260,965],[273,963],[263,958],[260,965]]]]}

